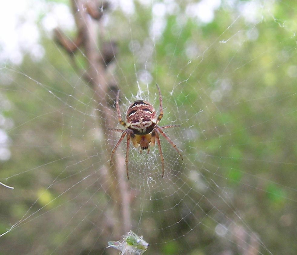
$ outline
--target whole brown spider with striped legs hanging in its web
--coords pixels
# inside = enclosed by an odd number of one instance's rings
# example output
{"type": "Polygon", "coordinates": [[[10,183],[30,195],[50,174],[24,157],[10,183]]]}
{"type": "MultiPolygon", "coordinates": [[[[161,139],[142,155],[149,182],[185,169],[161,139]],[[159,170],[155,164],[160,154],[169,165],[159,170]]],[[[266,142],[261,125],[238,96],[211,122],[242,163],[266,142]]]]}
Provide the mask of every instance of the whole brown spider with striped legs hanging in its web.
{"type": "Polygon", "coordinates": [[[162,107],[162,95],[160,88],[157,85],[159,91],[159,101],[160,101],[160,114],[157,117],[156,111],[153,106],[144,101],[144,100],[137,100],[131,103],[131,105],[127,109],[126,113],[126,122],[122,120],[122,116],[120,113],[120,106],[119,106],[119,94],[120,91],[117,92],[117,101],[116,101],[116,108],[117,108],[117,116],[121,125],[123,125],[126,129],[110,129],[117,132],[122,132],[120,139],[118,140],[117,144],[111,151],[111,159],[110,162],[112,164],[112,159],[114,152],[116,151],[119,144],[122,142],[124,137],[127,135],[127,148],[126,148],[126,172],[127,178],[129,180],[129,148],[130,148],[130,138],[132,138],[132,143],[135,148],[140,146],[140,152],[142,150],[147,150],[147,153],[150,152],[150,146],[155,145],[155,141],[157,140],[161,163],[162,163],[162,178],[164,176],[164,157],[161,149],[160,144],[160,137],[159,134],[165,137],[165,139],[170,143],[170,145],[177,151],[180,155],[181,159],[183,160],[183,156],[181,155],[180,151],[177,149],[177,146],[170,140],[170,138],[165,135],[162,129],[167,129],[171,127],[178,127],[180,125],[167,125],[167,126],[158,126],[158,123],[163,117],[163,107],[162,107]]]}

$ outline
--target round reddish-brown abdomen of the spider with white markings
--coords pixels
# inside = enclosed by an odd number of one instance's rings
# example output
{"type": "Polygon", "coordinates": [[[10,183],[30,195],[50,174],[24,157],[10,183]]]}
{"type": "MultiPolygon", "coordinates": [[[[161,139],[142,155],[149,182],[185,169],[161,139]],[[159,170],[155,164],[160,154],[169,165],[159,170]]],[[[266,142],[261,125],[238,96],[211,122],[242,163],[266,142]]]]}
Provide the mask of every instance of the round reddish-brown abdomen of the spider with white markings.
{"type": "Polygon", "coordinates": [[[143,100],[133,102],[126,113],[126,124],[136,135],[146,135],[156,126],[156,111],[150,103],[143,100]]]}

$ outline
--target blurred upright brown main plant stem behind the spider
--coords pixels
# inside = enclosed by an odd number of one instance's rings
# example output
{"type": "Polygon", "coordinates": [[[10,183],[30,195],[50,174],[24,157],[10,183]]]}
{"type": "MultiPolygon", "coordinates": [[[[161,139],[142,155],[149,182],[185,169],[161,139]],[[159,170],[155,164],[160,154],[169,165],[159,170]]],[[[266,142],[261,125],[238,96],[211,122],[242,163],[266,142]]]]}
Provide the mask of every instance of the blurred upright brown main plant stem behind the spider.
{"type": "MultiPolygon", "coordinates": [[[[106,155],[104,155],[104,159],[107,159],[113,146],[111,142],[113,139],[110,139],[111,133],[108,131],[108,128],[115,127],[116,123],[115,118],[112,117],[114,116],[114,109],[108,105],[108,100],[106,99],[106,94],[110,91],[106,64],[104,64],[104,61],[99,61],[102,59],[102,54],[100,54],[97,45],[98,31],[96,23],[98,23],[98,20],[88,18],[90,7],[86,8],[84,0],[71,0],[71,3],[77,29],[82,37],[81,50],[84,52],[87,60],[87,80],[95,92],[96,108],[100,115],[99,118],[102,120],[100,125],[106,141],[106,148],[104,148],[106,155]]],[[[116,203],[114,208],[117,208],[117,211],[114,213],[114,216],[122,216],[121,219],[117,219],[114,222],[113,229],[114,233],[121,236],[131,228],[130,188],[124,175],[123,156],[117,156],[116,163],[109,168],[104,178],[104,183],[108,183],[107,187],[109,187],[107,188],[108,195],[116,203]],[[119,222],[122,222],[121,226],[119,226],[119,222]]]]}

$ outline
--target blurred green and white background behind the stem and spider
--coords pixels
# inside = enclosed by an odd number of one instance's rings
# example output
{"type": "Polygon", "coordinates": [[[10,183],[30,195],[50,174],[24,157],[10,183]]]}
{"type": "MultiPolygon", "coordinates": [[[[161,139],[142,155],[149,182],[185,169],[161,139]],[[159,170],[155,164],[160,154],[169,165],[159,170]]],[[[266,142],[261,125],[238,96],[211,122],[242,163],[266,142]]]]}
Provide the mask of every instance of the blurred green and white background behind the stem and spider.
{"type": "MultiPolygon", "coordinates": [[[[2,5],[0,181],[15,189],[0,185],[0,254],[110,253],[107,241],[124,233],[111,230],[120,216],[109,217],[114,201],[101,181],[104,119],[83,51],[79,73],[54,40],[57,27],[72,40],[77,32],[71,4],[2,5]]],[[[157,150],[150,164],[131,154],[131,230],[150,243],[145,254],[296,254],[296,9],[272,0],[104,9],[98,44],[116,42],[108,72],[122,112],[146,89],[157,108],[158,83],[162,125],[181,124],[168,136],[185,160],[163,139],[172,167],[156,187],[136,168],[160,171],[157,150]]]]}

